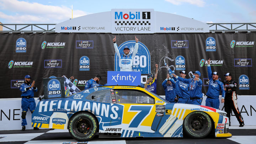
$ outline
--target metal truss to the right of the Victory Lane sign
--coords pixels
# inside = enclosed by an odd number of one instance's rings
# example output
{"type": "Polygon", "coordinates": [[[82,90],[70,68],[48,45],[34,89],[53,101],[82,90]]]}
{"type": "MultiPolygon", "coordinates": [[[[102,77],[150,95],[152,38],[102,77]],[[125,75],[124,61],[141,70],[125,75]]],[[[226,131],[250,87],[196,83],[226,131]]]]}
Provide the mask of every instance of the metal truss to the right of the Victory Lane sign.
{"type": "Polygon", "coordinates": [[[207,23],[213,31],[256,31],[256,23],[207,23]]]}

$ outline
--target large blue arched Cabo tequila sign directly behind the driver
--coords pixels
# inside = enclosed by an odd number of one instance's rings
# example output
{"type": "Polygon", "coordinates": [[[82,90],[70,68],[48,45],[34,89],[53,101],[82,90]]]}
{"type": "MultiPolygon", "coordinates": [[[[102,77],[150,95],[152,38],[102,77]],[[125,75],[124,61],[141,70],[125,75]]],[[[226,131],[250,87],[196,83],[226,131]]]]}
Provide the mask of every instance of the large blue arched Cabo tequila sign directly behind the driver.
{"type": "MultiPolygon", "coordinates": [[[[138,52],[135,55],[133,59],[133,66],[132,69],[133,71],[140,71],[141,74],[150,74],[151,73],[151,64],[150,64],[150,53],[148,48],[143,44],[142,42],[138,42],[139,48],[138,52]]],[[[130,54],[133,53],[134,46],[135,46],[135,41],[126,41],[122,43],[120,46],[118,46],[119,52],[123,53],[123,49],[125,46],[128,46],[130,49],[130,54]]],[[[114,46],[112,46],[114,49],[114,46]]],[[[114,56],[114,66],[115,66],[115,71],[120,71],[119,67],[119,58],[117,54],[115,53],[114,56]]]]}

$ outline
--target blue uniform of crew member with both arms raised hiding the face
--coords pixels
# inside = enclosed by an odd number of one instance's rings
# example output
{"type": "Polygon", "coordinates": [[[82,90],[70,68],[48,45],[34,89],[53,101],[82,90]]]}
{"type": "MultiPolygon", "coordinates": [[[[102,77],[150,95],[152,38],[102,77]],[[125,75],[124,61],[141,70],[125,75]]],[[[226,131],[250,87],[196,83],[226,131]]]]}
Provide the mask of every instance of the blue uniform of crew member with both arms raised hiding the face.
{"type": "Polygon", "coordinates": [[[170,103],[175,103],[175,81],[171,78],[165,79],[162,83],[162,86],[165,90],[165,100],[169,101],[170,103]],[[170,80],[171,84],[167,84],[167,80],[170,80]]]}

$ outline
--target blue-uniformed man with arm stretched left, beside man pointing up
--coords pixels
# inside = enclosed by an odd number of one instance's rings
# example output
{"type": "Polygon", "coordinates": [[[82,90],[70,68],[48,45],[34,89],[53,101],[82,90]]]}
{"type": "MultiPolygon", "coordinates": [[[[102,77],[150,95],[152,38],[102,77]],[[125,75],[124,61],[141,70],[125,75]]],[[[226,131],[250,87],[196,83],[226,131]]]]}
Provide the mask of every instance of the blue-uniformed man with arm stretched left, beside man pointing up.
{"type": "Polygon", "coordinates": [[[202,85],[203,82],[200,79],[201,73],[199,71],[192,71],[193,73],[193,79],[184,79],[181,78],[175,74],[174,77],[182,82],[185,82],[189,85],[189,91],[190,91],[190,104],[193,105],[201,105],[203,100],[203,94],[202,94],[202,85]]]}

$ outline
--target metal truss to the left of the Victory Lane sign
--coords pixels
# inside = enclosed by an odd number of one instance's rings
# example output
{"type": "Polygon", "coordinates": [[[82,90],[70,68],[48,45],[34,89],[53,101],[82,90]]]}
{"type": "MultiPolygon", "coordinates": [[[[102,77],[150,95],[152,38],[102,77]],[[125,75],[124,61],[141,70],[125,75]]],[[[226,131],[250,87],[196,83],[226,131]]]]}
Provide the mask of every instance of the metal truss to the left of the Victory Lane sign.
{"type": "Polygon", "coordinates": [[[0,32],[55,32],[56,24],[1,24],[0,32]]]}

